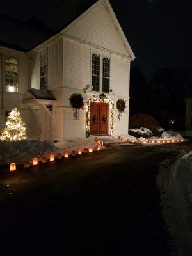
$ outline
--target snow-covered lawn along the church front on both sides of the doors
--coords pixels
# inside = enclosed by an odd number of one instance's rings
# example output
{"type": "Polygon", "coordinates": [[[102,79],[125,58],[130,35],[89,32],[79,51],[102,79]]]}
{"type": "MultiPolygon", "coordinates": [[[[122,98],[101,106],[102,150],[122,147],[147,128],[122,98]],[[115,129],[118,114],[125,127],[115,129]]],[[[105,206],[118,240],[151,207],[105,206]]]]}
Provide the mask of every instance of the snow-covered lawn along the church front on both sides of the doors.
{"type": "MultiPolygon", "coordinates": [[[[162,138],[136,138],[131,135],[122,135],[118,137],[110,137],[102,139],[106,147],[111,144],[113,147],[118,146],[120,143],[123,145],[131,145],[131,143],[145,143],[145,145],[150,145],[151,140],[173,140],[181,139],[182,136],[177,134],[177,136],[171,136],[170,134],[163,132],[162,138]]],[[[56,143],[51,141],[40,141],[40,140],[21,140],[21,141],[0,141],[0,165],[17,163],[24,164],[29,163],[34,157],[39,159],[50,154],[57,156],[58,153],[63,153],[65,151],[72,152],[78,149],[84,149],[96,145],[95,137],[79,139],[74,141],[62,140],[56,143]]]]}

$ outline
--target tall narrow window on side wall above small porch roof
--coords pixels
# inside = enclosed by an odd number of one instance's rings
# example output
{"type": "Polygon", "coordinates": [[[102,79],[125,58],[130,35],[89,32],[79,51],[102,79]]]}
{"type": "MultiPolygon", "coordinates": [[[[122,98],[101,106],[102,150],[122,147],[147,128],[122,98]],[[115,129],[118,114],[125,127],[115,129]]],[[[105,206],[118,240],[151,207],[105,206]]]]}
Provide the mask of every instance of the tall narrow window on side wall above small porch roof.
{"type": "Polygon", "coordinates": [[[47,88],[47,49],[40,53],[40,89],[47,88]]]}

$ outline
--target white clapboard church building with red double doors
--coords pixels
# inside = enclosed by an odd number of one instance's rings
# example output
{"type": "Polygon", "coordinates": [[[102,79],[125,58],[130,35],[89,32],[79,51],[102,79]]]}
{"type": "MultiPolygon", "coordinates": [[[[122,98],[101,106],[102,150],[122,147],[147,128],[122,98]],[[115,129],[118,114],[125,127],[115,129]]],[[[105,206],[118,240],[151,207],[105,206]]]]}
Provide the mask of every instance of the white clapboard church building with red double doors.
{"type": "Polygon", "coordinates": [[[0,46],[0,132],[19,109],[28,136],[73,140],[128,134],[129,72],[134,54],[108,0],[29,52],[0,46]],[[80,93],[83,109],[69,98],[80,93]],[[116,101],[126,100],[118,118],[116,101]]]}

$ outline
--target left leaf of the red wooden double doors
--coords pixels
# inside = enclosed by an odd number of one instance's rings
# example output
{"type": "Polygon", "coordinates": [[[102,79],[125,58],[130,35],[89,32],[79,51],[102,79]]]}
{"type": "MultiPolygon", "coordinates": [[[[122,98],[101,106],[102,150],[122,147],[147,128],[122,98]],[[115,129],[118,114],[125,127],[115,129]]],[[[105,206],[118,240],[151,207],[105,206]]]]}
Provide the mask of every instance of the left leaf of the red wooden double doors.
{"type": "Polygon", "coordinates": [[[90,135],[99,135],[99,103],[90,104],[90,135]]]}

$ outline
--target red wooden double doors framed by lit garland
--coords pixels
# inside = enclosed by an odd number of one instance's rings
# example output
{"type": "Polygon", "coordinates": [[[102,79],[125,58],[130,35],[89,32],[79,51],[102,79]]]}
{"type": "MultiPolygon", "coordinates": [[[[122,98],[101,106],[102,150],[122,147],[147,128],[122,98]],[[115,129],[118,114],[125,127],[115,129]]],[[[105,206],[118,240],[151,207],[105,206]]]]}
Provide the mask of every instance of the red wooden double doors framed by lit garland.
{"type": "Polygon", "coordinates": [[[90,135],[108,135],[109,104],[91,102],[90,135]]]}

